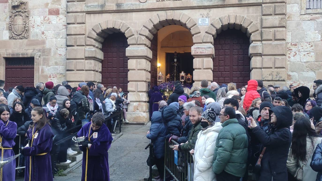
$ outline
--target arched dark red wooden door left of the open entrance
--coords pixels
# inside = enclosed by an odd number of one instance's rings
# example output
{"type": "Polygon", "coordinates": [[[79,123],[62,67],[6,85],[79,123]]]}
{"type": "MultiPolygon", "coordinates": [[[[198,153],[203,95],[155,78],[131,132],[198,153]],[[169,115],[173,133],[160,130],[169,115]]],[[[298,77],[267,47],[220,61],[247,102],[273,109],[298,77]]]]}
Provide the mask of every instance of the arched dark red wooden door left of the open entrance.
{"type": "Polygon", "coordinates": [[[127,38],[123,33],[110,34],[103,42],[102,84],[105,87],[122,87],[124,92],[128,92],[128,57],[125,56],[127,47],[127,38]]]}

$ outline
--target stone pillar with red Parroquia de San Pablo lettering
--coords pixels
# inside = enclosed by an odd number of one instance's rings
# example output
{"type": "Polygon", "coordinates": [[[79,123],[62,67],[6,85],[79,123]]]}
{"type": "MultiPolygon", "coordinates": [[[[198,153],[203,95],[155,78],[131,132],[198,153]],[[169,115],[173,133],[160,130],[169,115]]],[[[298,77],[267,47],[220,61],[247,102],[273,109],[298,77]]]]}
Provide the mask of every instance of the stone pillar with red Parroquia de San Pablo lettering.
{"type": "Polygon", "coordinates": [[[213,81],[213,57],[212,44],[194,44],[191,47],[191,55],[194,56],[193,86],[200,87],[202,80],[213,81]]]}

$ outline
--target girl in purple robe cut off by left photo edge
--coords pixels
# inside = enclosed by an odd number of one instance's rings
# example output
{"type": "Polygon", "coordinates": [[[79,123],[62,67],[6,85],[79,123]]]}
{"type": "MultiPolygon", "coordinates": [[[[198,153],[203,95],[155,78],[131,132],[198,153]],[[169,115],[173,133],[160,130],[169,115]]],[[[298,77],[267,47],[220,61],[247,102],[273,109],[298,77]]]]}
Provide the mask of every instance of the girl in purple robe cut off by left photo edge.
{"type": "MultiPolygon", "coordinates": [[[[17,124],[9,121],[10,110],[8,106],[0,107],[0,149],[1,161],[13,157],[14,138],[17,133],[17,124]]],[[[0,181],[14,181],[15,179],[15,161],[11,161],[0,169],[0,181]]]]}

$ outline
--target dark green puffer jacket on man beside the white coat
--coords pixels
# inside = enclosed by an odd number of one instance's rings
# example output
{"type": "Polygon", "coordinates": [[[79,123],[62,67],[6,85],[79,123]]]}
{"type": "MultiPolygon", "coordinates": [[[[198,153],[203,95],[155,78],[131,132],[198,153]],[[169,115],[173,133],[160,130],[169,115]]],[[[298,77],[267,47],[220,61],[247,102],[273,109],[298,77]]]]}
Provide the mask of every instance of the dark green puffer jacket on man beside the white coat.
{"type": "Polygon", "coordinates": [[[220,174],[225,171],[233,176],[243,177],[248,156],[246,131],[236,118],[228,119],[222,127],[216,139],[213,172],[220,174]]]}

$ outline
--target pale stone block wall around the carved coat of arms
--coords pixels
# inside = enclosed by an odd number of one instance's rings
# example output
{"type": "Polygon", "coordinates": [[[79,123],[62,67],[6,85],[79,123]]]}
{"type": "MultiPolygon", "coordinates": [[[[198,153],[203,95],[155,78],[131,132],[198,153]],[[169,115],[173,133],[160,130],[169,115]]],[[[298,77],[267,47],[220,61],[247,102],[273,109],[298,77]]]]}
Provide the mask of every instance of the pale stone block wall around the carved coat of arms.
{"type": "MultiPolygon", "coordinates": [[[[4,57],[35,56],[34,82],[66,80],[66,0],[25,1],[29,9],[28,39],[9,40],[11,0],[0,1],[0,64],[4,57]],[[29,54],[26,54],[29,53],[29,54]]],[[[1,66],[0,79],[5,79],[1,66]]]]}

